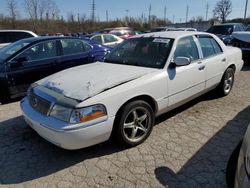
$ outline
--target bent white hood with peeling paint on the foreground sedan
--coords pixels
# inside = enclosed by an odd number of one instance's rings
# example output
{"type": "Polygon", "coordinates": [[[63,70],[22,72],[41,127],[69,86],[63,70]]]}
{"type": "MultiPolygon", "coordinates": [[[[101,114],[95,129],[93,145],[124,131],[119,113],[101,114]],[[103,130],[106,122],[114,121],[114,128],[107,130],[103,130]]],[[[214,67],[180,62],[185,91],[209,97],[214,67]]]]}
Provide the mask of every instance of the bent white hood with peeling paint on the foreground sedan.
{"type": "Polygon", "coordinates": [[[37,82],[66,97],[83,101],[157,69],[96,62],[70,68],[37,82]]]}

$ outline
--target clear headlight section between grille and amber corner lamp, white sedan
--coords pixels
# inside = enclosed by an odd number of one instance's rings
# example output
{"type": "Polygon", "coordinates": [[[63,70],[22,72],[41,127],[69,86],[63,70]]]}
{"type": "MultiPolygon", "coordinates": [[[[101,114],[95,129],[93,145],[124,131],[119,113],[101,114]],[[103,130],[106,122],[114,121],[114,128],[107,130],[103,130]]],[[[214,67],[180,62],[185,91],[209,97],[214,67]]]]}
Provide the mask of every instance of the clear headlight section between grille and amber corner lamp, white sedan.
{"type": "Polygon", "coordinates": [[[55,104],[50,112],[50,116],[69,122],[72,109],[55,104]]]}

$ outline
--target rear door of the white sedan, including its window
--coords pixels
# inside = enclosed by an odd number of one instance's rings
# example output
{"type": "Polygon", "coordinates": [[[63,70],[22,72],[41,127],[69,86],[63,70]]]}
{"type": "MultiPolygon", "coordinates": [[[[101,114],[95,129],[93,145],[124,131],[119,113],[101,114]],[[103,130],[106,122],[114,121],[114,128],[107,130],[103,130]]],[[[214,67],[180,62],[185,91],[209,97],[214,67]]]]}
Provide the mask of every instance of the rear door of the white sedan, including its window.
{"type": "Polygon", "coordinates": [[[197,36],[201,50],[202,61],[206,67],[206,88],[211,88],[221,81],[226,64],[226,55],[220,45],[210,35],[197,36]]]}

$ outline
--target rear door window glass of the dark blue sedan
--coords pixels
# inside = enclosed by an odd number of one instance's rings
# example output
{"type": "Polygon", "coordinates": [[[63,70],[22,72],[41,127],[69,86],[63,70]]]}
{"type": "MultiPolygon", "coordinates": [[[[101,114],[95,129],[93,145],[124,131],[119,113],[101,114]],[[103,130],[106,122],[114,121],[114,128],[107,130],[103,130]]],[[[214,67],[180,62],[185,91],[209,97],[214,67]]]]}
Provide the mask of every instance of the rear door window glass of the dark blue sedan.
{"type": "Polygon", "coordinates": [[[82,40],[63,39],[60,42],[62,44],[63,55],[83,53],[92,49],[89,44],[82,40]]]}

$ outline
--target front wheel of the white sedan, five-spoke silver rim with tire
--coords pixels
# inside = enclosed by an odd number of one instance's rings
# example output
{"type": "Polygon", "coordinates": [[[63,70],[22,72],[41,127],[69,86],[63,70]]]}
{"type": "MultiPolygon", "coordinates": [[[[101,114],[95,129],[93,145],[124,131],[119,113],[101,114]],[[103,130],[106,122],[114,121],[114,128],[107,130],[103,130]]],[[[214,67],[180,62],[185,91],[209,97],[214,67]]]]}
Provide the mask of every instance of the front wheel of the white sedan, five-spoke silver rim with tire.
{"type": "Polygon", "coordinates": [[[144,142],[154,126],[154,111],[142,100],[125,105],[114,127],[116,141],[126,147],[133,147],[144,142]]]}

